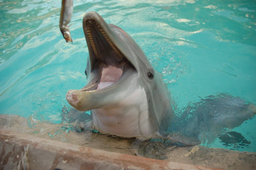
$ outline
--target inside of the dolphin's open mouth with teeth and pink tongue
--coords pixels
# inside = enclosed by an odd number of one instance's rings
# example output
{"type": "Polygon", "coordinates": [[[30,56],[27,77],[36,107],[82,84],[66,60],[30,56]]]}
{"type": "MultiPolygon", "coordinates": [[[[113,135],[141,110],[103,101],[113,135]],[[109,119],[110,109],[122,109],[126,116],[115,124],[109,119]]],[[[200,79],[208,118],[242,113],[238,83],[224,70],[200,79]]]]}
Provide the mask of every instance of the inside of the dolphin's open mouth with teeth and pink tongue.
{"type": "Polygon", "coordinates": [[[126,70],[135,71],[125,55],[110,40],[104,30],[106,25],[93,19],[86,20],[85,24],[84,32],[91,64],[90,72],[93,76],[90,82],[81,90],[103,89],[117,82],[121,76],[125,75],[123,73],[126,70]]]}

